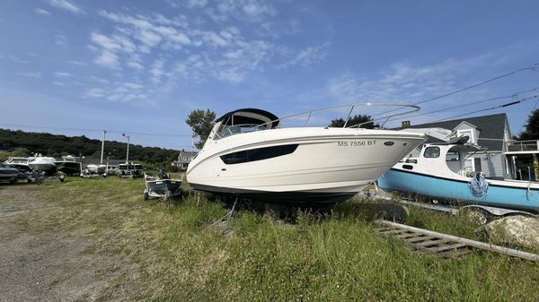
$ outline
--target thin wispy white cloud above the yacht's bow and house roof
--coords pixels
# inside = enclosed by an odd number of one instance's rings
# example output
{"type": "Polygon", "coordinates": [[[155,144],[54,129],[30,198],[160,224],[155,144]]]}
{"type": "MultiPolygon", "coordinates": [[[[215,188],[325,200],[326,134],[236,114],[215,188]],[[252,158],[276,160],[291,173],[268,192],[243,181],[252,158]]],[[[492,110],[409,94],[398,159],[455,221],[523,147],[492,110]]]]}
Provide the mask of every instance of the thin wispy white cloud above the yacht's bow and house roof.
{"type": "MultiPolygon", "coordinates": [[[[328,90],[334,99],[340,101],[416,104],[469,85],[470,82],[462,80],[466,78],[465,74],[493,61],[493,58],[487,55],[460,61],[446,60],[435,65],[398,63],[376,76],[341,74],[331,80],[328,90]]],[[[420,107],[477,99],[484,93],[485,91],[474,89],[467,91],[467,94],[458,93],[437,99],[436,102],[424,103],[420,107]]]]}

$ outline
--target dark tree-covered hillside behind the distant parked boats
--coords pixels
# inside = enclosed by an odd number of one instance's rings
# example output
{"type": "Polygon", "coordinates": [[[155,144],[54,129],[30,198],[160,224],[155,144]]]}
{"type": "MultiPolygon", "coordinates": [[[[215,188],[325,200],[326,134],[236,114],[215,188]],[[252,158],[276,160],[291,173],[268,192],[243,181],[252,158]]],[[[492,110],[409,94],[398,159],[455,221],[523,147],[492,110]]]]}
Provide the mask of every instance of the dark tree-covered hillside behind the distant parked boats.
{"type": "MultiPolygon", "coordinates": [[[[101,157],[101,147],[101,140],[89,139],[84,135],[70,137],[0,129],[0,151],[4,151],[4,154],[16,151],[17,154],[21,155],[42,153],[60,158],[62,155],[71,154],[97,159],[101,157]]],[[[104,154],[105,156],[110,154],[110,159],[125,160],[126,148],[126,142],[106,141],[104,154]]],[[[129,160],[146,163],[172,162],[178,158],[179,153],[180,151],[170,149],[143,147],[137,144],[129,145],[129,160]]]]}

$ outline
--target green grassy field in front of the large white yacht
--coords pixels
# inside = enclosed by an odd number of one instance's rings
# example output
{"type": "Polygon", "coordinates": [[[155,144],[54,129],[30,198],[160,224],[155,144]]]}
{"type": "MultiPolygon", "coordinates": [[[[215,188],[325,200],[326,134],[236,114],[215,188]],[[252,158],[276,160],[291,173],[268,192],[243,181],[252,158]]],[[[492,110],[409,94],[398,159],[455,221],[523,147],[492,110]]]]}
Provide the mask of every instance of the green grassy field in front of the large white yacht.
{"type": "MultiPolygon", "coordinates": [[[[31,190],[62,211],[24,215],[28,232],[77,229],[94,250],[136,263],[136,279],[114,280],[97,300],[152,301],[539,301],[539,263],[477,251],[439,259],[380,237],[363,211],[343,203],[295,221],[242,210],[222,235],[211,223],[229,208],[194,196],[143,202],[141,179],[81,179],[31,190]],[[128,284],[126,284],[128,282],[128,284]],[[119,297],[115,287],[128,287],[119,297]]],[[[482,238],[472,223],[411,209],[408,223],[482,238]]],[[[122,270],[121,267],[115,268],[122,270]]],[[[134,269],[130,269],[134,270],[134,269]]]]}

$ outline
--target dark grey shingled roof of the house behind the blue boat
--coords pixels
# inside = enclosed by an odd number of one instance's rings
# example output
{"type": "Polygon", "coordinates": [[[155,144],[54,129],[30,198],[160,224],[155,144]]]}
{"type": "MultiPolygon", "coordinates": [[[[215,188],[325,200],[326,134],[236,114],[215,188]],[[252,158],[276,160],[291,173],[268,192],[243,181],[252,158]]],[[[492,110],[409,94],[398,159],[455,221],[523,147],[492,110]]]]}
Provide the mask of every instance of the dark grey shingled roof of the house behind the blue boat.
{"type": "MultiPolygon", "coordinates": [[[[505,113],[499,113],[490,116],[476,116],[466,117],[461,119],[454,119],[450,121],[427,123],[420,125],[411,125],[407,128],[433,128],[440,127],[448,130],[454,130],[456,126],[461,125],[463,122],[477,127],[479,131],[479,138],[477,144],[488,149],[488,151],[502,151],[503,139],[505,135],[505,126],[507,124],[508,116],[505,113]],[[495,141],[491,140],[495,139],[495,141]],[[499,140],[499,141],[498,141],[499,140]]],[[[399,128],[402,129],[402,128],[399,128]]],[[[511,134],[508,129],[509,135],[511,134]]],[[[434,139],[427,140],[432,142],[434,139]]]]}

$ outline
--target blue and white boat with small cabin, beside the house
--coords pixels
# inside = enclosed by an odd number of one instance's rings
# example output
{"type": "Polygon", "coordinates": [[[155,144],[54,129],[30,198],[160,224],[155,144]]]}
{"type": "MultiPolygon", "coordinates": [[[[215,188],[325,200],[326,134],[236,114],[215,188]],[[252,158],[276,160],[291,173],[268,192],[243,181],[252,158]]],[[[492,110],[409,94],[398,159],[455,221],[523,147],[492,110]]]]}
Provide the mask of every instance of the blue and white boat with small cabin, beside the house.
{"type": "Polygon", "coordinates": [[[539,212],[539,183],[488,179],[466,171],[464,160],[481,147],[465,141],[424,144],[419,157],[395,164],[378,178],[378,186],[437,201],[539,212]]]}

